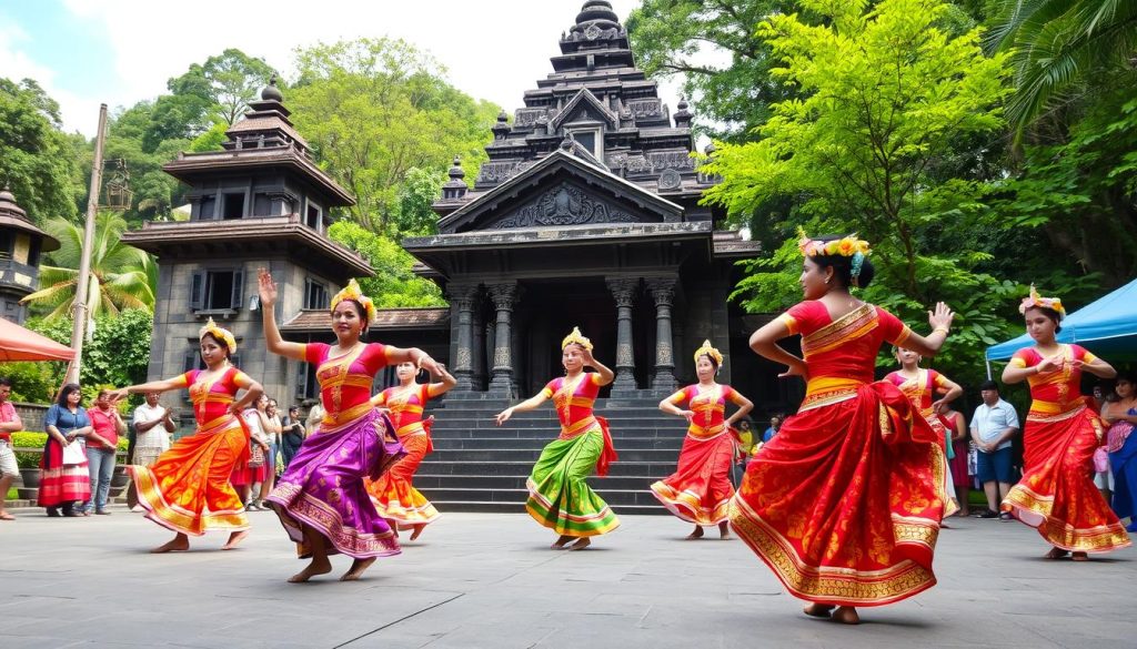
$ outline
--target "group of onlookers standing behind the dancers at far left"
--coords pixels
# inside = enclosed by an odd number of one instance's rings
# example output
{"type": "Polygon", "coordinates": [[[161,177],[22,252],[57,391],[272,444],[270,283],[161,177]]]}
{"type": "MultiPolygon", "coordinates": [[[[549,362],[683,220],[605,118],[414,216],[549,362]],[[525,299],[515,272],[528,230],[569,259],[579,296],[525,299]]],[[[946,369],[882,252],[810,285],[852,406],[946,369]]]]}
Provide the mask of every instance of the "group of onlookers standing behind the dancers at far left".
{"type": "MultiPolygon", "coordinates": [[[[24,430],[9,397],[11,381],[0,378],[0,521],[13,521],[5,509],[8,490],[19,474],[11,444],[11,433],[24,430]]],[[[78,384],[68,383],[43,417],[47,440],[40,463],[39,505],[51,517],[109,515],[107,508],[119,439],[128,440],[126,463],[148,466],[169,449],[177,431],[176,414],[158,402],[158,392],[149,392],[130,417],[109,390],[98,393],[90,408],[82,406],[78,384]]],[[[255,407],[242,413],[250,433],[249,454],[230,477],[246,509],[266,509],[264,499],[276,477],[292,460],[304,439],[312,433],[323,408],[317,403],[300,417],[292,406],[281,413],[275,399],[262,396],[255,407]]],[[[130,484],[126,502],[132,511],[142,511],[138,491],[130,484]]]]}

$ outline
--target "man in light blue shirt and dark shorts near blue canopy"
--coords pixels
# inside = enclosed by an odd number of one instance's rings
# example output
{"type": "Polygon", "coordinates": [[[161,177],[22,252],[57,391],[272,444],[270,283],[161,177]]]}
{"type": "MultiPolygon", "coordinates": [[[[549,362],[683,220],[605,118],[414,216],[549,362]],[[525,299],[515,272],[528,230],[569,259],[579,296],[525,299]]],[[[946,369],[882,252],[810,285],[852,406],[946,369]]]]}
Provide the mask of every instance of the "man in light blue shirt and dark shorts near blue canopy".
{"type": "Polygon", "coordinates": [[[979,394],[984,402],[971,418],[971,440],[979,451],[976,475],[987,494],[987,510],[976,516],[1011,521],[1010,514],[998,514],[998,507],[1015,481],[1011,473],[1011,439],[1019,434],[1019,415],[1014,406],[999,398],[998,385],[994,381],[984,381],[979,385],[979,394]]]}

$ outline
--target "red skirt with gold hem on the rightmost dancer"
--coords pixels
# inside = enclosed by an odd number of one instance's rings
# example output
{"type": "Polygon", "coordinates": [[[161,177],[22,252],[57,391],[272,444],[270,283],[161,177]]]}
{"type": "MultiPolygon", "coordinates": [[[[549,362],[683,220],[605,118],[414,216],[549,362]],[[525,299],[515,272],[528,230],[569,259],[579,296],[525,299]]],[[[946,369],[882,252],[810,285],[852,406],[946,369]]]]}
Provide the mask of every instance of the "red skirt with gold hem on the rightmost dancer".
{"type": "Polygon", "coordinates": [[[1109,552],[1130,544],[1117,514],[1094,485],[1101,421],[1089,408],[1040,422],[1028,418],[1023,472],[1003,510],[1038,529],[1055,548],[1109,552]]]}

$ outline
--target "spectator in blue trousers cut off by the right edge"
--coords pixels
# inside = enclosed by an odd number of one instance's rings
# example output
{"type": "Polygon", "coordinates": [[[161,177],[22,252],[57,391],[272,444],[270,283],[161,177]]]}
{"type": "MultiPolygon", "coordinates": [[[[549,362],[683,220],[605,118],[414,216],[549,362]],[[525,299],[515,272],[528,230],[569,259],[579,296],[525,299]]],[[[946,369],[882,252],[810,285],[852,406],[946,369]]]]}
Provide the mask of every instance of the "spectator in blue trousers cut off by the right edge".
{"type": "Polygon", "coordinates": [[[1106,442],[1113,469],[1113,511],[1129,518],[1126,530],[1137,532],[1137,377],[1118,377],[1118,400],[1105,406],[1102,418],[1110,424],[1106,442]]]}

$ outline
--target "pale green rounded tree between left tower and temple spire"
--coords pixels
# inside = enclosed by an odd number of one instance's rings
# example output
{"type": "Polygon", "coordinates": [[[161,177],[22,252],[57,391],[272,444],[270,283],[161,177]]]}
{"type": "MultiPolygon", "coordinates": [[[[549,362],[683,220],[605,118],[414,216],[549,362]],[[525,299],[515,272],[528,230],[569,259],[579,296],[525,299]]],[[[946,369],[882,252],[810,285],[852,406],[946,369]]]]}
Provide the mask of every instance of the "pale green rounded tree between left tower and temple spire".
{"type": "Polygon", "coordinates": [[[390,39],[300,49],[287,97],[297,130],[324,168],[355,194],[350,217],[393,234],[410,169],[441,177],[455,155],[485,159],[498,107],[445,80],[430,55],[390,39]]]}

